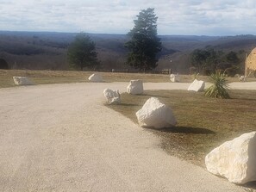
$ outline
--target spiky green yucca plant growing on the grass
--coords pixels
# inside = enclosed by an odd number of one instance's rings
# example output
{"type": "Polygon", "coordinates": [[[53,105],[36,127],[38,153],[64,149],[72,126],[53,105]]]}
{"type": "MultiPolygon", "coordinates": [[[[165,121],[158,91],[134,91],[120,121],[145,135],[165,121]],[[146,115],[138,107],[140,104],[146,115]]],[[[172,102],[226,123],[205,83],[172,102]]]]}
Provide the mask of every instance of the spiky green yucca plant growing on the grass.
{"type": "Polygon", "coordinates": [[[228,95],[229,86],[226,75],[220,71],[216,71],[209,77],[213,84],[205,90],[204,95],[222,99],[230,98],[228,95]]]}

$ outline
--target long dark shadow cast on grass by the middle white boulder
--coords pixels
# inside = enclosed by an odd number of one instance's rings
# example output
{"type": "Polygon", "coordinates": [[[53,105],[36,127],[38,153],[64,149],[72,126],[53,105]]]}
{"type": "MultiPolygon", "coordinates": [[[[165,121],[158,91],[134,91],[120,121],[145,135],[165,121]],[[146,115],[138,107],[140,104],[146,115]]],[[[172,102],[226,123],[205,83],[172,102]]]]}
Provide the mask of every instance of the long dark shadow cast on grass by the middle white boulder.
{"type": "Polygon", "coordinates": [[[215,132],[207,128],[197,127],[166,127],[159,129],[159,131],[165,133],[215,134],[215,132]]]}

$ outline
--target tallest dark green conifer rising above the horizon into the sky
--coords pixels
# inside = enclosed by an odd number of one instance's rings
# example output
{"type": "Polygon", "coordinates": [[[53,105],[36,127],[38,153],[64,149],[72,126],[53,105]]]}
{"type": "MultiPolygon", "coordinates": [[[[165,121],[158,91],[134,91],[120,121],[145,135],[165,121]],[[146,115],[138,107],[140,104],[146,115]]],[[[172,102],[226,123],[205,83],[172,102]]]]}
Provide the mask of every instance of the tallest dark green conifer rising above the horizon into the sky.
{"type": "Polygon", "coordinates": [[[127,63],[140,71],[154,69],[159,60],[157,53],[161,51],[161,42],[157,36],[157,19],[154,9],[143,9],[128,33],[130,40],[125,44],[129,51],[127,63]]]}

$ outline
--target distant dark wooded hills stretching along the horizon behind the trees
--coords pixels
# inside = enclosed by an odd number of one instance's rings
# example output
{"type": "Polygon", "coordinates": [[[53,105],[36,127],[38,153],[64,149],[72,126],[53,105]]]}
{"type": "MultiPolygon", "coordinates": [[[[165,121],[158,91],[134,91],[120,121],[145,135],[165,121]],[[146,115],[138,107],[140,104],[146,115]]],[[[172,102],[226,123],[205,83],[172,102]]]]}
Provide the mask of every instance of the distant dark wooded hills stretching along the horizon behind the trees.
{"type": "MultiPolygon", "coordinates": [[[[98,59],[103,71],[130,69],[125,65],[127,50],[123,46],[126,34],[88,34],[97,46],[98,59]]],[[[9,32],[0,31],[0,59],[5,59],[11,69],[68,70],[66,51],[74,40],[74,33],[9,32]]],[[[193,36],[159,35],[163,50],[159,54],[157,71],[188,73],[190,53],[197,48],[212,46],[225,53],[245,53],[256,47],[255,35],[193,36]]]]}

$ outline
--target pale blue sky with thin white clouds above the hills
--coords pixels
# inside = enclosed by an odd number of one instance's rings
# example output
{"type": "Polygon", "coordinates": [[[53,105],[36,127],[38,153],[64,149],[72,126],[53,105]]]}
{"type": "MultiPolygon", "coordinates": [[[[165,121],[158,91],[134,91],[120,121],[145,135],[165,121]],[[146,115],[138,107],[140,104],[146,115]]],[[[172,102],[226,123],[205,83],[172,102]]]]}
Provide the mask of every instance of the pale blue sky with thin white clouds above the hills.
{"type": "Polygon", "coordinates": [[[127,34],[149,7],[159,34],[256,34],[255,0],[0,0],[0,30],[127,34]]]}

